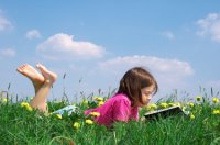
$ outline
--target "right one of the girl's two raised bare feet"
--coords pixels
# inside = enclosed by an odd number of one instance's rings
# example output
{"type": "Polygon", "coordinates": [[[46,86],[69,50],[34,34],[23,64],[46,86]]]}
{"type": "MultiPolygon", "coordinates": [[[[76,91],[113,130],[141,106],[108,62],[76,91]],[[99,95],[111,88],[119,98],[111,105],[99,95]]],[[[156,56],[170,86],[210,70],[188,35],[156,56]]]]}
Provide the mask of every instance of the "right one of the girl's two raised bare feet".
{"type": "Polygon", "coordinates": [[[45,66],[43,66],[42,64],[37,64],[36,67],[40,69],[40,71],[42,72],[43,77],[44,77],[44,82],[53,85],[56,79],[57,79],[57,75],[53,71],[50,71],[45,66]]]}

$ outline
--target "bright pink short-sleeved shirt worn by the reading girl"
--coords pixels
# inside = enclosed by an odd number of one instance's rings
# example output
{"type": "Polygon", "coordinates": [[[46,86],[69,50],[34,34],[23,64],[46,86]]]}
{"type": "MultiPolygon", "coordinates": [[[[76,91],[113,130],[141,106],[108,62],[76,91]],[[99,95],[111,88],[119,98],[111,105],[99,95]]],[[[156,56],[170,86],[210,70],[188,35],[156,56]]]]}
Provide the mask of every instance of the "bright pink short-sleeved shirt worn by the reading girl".
{"type": "Polygon", "coordinates": [[[86,110],[85,114],[90,112],[99,112],[100,116],[97,116],[95,121],[106,126],[111,126],[114,121],[139,120],[139,108],[131,108],[130,99],[123,93],[113,96],[101,107],[86,110]]]}

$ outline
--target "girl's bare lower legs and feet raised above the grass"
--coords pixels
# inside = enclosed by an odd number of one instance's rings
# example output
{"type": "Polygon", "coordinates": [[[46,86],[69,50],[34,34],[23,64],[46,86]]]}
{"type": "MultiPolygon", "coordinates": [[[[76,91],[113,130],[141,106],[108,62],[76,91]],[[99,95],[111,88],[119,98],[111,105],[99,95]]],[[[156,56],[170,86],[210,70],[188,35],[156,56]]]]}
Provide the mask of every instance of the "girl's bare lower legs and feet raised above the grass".
{"type": "Polygon", "coordinates": [[[32,108],[38,109],[43,112],[48,112],[46,107],[46,99],[48,97],[52,85],[55,82],[56,74],[46,69],[45,66],[37,64],[37,68],[42,74],[36,71],[29,64],[20,66],[16,70],[28,77],[35,89],[35,97],[30,102],[32,108]]]}

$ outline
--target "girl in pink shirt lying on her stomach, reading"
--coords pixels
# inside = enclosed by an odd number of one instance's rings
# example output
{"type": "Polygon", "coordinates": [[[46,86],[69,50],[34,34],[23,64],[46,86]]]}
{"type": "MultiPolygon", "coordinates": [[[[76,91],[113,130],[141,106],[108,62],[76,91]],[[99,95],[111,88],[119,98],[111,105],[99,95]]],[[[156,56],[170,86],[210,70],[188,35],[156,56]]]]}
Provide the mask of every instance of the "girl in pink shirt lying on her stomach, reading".
{"type": "MultiPolygon", "coordinates": [[[[35,89],[35,97],[30,102],[33,109],[48,113],[47,97],[52,85],[56,81],[57,75],[50,71],[42,64],[37,64],[36,68],[31,65],[23,64],[16,70],[28,77],[35,89]]],[[[100,113],[95,121],[107,127],[112,126],[113,122],[139,120],[139,108],[146,105],[152,94],[157,92],[158,86],[154,77],[142,67],[134,67],[128,70],[122,77],[118,92],[106,101],[105,104],[86,110],[85,114],[91,112],[100,113]]]]}

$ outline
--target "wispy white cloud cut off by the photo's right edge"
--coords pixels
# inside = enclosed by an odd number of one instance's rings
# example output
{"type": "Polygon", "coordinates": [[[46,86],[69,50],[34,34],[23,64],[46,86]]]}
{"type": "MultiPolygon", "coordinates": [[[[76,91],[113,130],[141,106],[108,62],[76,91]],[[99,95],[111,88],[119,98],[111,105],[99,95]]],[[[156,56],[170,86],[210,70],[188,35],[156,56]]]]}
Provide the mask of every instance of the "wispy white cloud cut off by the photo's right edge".
{"type": "Polygon", "coordinates": [[[220,14],[209,13],[205,19],[198,20],[197,24],[200,29],[198,35],[209,35],[211,40],[220,43],[220,14]]]}

